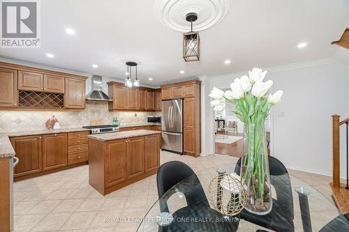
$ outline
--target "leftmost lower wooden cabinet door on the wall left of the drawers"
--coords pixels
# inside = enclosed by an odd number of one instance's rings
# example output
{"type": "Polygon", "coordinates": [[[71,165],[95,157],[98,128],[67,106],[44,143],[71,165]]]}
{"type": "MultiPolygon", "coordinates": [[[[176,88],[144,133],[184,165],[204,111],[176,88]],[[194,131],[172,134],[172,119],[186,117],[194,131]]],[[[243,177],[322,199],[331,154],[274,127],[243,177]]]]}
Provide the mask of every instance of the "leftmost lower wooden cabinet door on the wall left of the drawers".
{"type": "Polygon", "coordinates": [[[15,167],[15,177],[38,173],[42,170],[41,136],[13,137],[10,139],[20,162],[15,167]]]}

